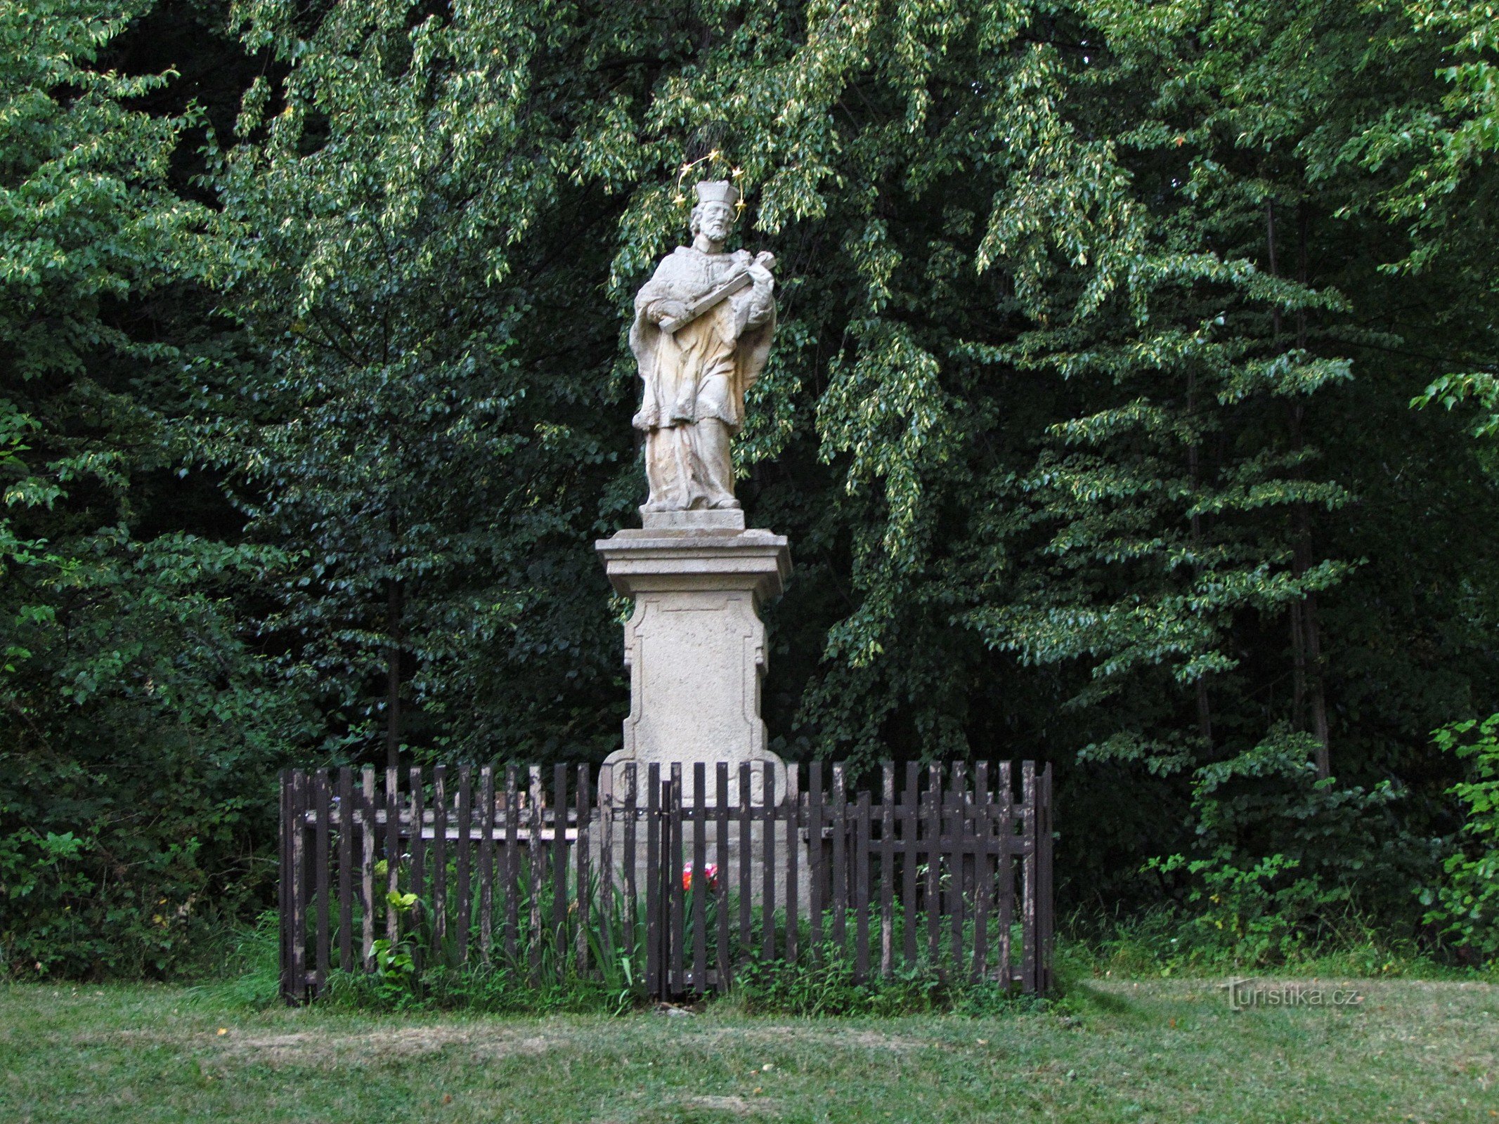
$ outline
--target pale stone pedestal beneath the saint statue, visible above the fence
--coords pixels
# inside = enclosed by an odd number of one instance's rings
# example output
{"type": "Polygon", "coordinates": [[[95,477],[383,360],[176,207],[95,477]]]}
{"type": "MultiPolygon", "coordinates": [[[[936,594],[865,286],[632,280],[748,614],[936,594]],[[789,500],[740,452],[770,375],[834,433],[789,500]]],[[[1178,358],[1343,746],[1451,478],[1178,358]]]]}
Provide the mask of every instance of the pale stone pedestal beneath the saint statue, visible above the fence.
{"type": "Polygon", "coordinates": [[[636,601],[625,625],[625,742],[604,761],[600,784],[619,775],[607,766],[636,761],[643,782],[652,761],[663,778],[681,761],[684,800],[691,802],[693,763],[705,761],[712,799],[714,766],[729,761],[730,799],[738,802],[739,764],[764,761],[775,769],[779,797],[785,766],[766,748],[760,718],[766,652],[758,610],[779,596],[791,571],[785,537],[745,531],[742,511],[645,513],[643,522],[640,531],[595,544],[610,583],[636,601]]]}

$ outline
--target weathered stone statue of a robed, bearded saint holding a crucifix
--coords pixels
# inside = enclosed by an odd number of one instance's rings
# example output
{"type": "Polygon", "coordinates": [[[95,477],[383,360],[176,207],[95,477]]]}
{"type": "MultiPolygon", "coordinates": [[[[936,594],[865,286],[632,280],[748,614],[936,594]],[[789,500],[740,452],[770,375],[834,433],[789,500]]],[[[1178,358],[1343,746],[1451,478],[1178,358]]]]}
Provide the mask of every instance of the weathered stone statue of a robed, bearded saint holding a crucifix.
{"type": "Polygon", "coordinates": [[[645,394],[634,427],[646,435],[651,481],[642,511],[739,507],[729,441],[770,354],[775,258],[724,253],[738,202],[726,180],[697,184],[693,244],[678,246],[636,294],[630,349],[645,394]]]}

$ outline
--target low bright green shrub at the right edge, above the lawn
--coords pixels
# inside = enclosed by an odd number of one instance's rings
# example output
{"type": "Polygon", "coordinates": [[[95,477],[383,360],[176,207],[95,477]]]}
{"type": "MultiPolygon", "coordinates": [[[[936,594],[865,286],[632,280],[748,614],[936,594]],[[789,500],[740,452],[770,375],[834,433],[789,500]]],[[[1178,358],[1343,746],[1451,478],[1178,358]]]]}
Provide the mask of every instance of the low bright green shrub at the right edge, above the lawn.
{"type": "Polygon", "coordinates": [[[1435,907],[1426,920],[1442,926],[1444,937],[1468,956],[1492,965],[1499,961],[1499,715],[1453,722],[1433,737],[1441,749],[1469,761],[1469,776],[1450,790],[1466,818],[1442,865],[1447,878],[1421,895],[1423,904],[1435,907]]]}

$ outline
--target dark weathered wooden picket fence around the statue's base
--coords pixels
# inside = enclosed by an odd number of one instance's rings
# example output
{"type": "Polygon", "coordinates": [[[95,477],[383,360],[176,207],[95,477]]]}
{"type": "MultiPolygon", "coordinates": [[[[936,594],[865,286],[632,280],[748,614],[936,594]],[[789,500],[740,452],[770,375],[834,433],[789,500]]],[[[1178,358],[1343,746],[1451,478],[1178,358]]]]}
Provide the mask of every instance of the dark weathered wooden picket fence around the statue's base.
{"type": "Polygon", "coordinates": [[[282,775],[282,995],[331,971],[475,959],[532,980],[621,964],[645,992],[726,991],[747,959],[841,955],[1051,986],[1051,767],[438,766],[282,775]],[[1018,782],[1018,791],[1015,788],[1018,782]]]}

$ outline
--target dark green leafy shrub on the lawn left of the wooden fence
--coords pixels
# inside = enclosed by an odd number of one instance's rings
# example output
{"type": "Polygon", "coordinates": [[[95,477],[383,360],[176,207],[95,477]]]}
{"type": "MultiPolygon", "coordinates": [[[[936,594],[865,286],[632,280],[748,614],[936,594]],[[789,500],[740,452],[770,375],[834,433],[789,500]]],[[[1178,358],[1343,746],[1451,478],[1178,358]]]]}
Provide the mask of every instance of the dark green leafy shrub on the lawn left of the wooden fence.
{"type": "MultiPolygon", "coordinates": [[[[121,549],[142,568],[163,553],[121,549]]],[[[67,628],[34,626],[61,638],[0,673],[0,974],[193,968],[274,898],[274,767],[304,733],[297,692],[193,583],[153,590],[102,558],[67,628]]]]}

